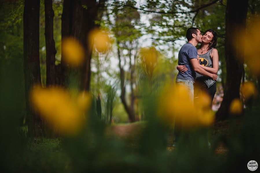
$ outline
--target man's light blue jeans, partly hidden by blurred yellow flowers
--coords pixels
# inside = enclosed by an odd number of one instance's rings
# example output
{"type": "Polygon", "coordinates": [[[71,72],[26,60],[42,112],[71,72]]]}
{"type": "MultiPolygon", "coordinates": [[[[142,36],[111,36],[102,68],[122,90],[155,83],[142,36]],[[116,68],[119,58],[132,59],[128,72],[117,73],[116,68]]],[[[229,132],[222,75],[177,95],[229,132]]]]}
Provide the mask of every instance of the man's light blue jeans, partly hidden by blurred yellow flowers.
{"type": "MultiPolygon", "coordinates": [[[[176,78],[176,86],[184,86],[188,90],[189,98],[191,102],[193,103],[194,99],[194,82],[191,80],[183,80],[176,78]]],[[[183,103],[185,105],[185,103],[183,103]]],[[[174,127],[174,137],[175,137],[175,142],[177,142],[180,138],[180,133],[182,132],[182,127],[175,125],[174,127]]]]}

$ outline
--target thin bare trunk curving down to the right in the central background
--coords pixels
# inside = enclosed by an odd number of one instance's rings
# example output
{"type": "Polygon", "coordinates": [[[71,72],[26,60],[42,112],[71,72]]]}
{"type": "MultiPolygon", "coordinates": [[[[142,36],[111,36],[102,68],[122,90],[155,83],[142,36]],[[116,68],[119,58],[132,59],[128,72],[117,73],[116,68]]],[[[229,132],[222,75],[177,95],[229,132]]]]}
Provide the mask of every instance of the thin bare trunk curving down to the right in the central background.
{"type": "MultiPolygon", "coordinates": [[[[119,42],[117,44],[119,45],[119,42]]],[[[121,98],[123,106],[126,110],[126,113],[128,114],[128,119],[130,120],[130,122],[134,122],[135,121],[134,112],[132,112],[132,109],[126,103],[125,71],[124,71],[123,67],[121,67],[121,56],[120,56],[119,46],[117,47],[117,54],[118,54],[118,59],[119,59],[120,82],[121,82],[121,96],[120,96],[120,98],[121,98]]]]}

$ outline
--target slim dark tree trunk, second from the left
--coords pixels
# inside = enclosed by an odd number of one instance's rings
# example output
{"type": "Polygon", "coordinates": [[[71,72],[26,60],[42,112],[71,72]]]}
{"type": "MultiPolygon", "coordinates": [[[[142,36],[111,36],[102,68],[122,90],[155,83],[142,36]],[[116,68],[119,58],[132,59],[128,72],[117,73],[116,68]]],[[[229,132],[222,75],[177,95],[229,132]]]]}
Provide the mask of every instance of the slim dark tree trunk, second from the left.
{"type": "Polygon", "coordinates": [[[46,44],[46,85],[55,85],[55,42],[53,38],[53,17],[52,0],[44,0],[45,7],[45,44],[46,44]]]}

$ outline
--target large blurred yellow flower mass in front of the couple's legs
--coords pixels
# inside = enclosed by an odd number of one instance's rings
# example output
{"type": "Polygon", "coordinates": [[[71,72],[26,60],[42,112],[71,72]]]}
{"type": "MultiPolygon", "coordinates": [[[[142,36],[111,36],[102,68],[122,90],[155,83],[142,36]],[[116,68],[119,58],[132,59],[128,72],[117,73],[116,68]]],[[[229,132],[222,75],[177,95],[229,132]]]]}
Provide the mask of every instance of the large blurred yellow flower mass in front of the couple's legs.
{"type": "Polygon", "coordinates": [[[158,115],[168,125],[175,123],[185,128],[208,126],[214,121],[209,104],[209,96],[201,95],[194,107],[186,87],[170,86],[159,99],[158,115]]]}

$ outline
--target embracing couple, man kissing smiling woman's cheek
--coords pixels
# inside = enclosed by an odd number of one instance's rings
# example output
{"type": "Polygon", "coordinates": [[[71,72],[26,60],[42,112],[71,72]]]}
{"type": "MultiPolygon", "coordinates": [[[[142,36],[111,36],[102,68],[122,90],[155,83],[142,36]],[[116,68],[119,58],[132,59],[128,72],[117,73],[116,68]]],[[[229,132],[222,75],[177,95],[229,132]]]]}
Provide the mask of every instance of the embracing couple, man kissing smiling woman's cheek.
{"type": "MultiPolygon", "coordinates": [[[[194,93],[194,83],[196,91],[204,91],[211,97],[211,104],[216,93],[216,80],[218,71],[217,33],[212,29],[206,30],[203,35],[198,28],[189,28],[186,32],[188,42],[182,46],[178,55],[179,71],[176,77],[176,85],[185,86],[189,92],[189,99],[193,102],[200,97],[199,93],[194,93]],[[198,43],[201,43],[197,49],[198,43]]],[[[178,140],[178,133],[175,133],[175,140],[178,140]]],[[[177,141],[176,141],[177,142],[177,141]]],[[[175,145],[174,145],[175,146],[175,145]]]]}

